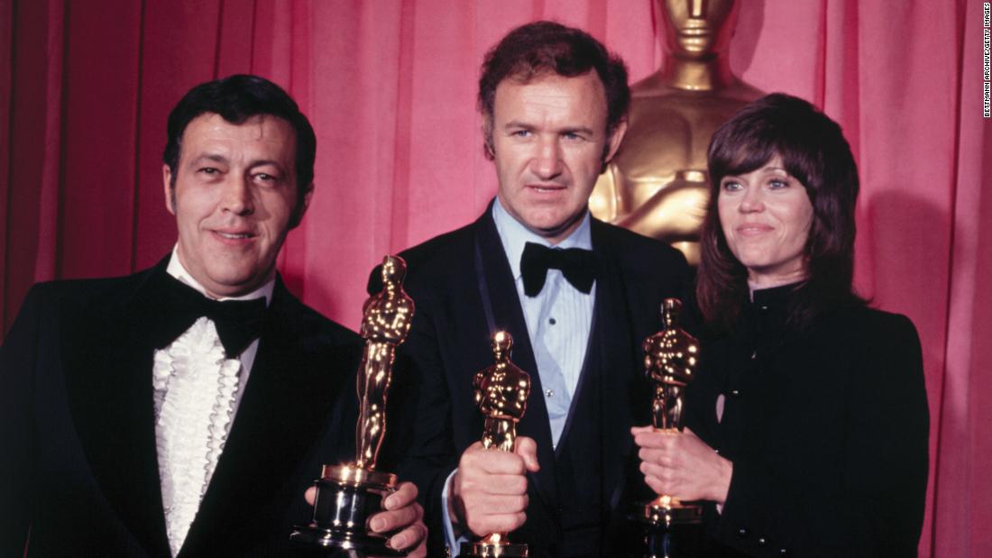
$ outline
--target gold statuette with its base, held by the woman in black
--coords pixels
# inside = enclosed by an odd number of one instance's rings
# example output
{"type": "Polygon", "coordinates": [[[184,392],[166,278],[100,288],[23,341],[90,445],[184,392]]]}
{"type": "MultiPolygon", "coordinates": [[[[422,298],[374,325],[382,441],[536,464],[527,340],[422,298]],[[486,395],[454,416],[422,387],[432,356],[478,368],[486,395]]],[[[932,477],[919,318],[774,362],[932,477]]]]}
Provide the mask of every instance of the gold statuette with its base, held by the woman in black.
{"type": "MultiPolygon", "coordinates": [[[[656,430],[682,431],[682,399],[699,362],[699,343],[679,328],[682,303],[666,298],[662,303],[665,329],[644,340],[644,368],[654,387],[651,422],[656,430]]],[[[687,555],[679,551],[679,525],[696,525],[702,508],[661,495],[637,506],[637,519],[648,525],[648,556],[673,558],[687,555]]],[[[684,537],[683,537],[684,538],[684,537]]]]}

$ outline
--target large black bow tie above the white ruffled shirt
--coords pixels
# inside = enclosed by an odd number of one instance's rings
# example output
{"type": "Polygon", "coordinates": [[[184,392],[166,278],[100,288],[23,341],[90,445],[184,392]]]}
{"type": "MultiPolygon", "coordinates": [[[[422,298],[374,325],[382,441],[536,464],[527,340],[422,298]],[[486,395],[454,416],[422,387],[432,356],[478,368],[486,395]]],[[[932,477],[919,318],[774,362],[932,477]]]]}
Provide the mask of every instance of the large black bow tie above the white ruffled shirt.
{"type": "Polygon", "coordinates": [[[157,327],[152,337],[157,349],[168,347],[200,317],[209,318],[217,328],[224,356],[233,359],[257,339],[265,322],[265,298],[214,300],[169,274],[156,281],[150,295],[160,297],[159,316],[152,316],[157,327]]]}

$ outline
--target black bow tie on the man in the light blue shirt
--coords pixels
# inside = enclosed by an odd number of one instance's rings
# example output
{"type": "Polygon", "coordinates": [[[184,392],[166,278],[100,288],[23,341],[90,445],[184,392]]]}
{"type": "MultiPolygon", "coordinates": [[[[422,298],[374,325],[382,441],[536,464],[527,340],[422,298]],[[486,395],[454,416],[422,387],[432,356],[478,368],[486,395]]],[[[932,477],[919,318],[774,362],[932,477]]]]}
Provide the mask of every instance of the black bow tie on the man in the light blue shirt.
{"type": "Polygon", "coordinates": [[[581,248],[548,248],[529,242],[520,258],[520,273],[524,276],[524,294],[537,296],[545,287],[548,270],[561,270],[572,286],[588,294],[596,280],[596,257],[591,250],[581,248]]]}

